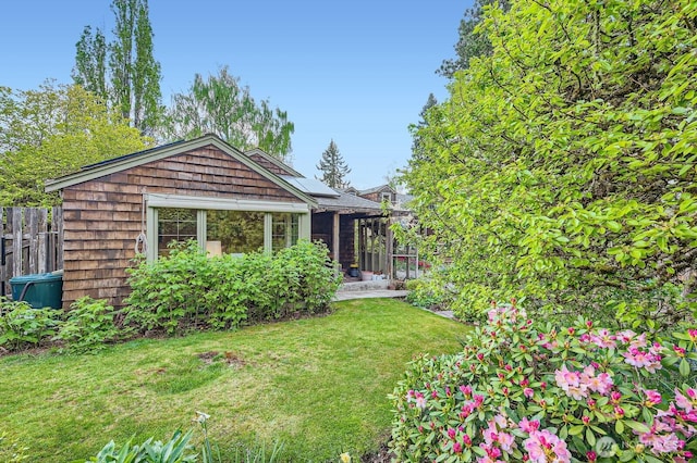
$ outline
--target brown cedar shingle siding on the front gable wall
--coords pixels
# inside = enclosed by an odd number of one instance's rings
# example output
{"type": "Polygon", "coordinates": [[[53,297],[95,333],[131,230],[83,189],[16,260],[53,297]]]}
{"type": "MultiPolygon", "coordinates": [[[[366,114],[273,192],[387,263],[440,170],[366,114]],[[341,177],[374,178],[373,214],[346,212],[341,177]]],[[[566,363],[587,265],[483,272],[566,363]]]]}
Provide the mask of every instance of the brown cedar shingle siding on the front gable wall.
{"type": "Polygon", "coordinates": [[[63,306],[83,296],[123,305],[144,193],[305,203],[213,145],[66,186],[63,306]]]}

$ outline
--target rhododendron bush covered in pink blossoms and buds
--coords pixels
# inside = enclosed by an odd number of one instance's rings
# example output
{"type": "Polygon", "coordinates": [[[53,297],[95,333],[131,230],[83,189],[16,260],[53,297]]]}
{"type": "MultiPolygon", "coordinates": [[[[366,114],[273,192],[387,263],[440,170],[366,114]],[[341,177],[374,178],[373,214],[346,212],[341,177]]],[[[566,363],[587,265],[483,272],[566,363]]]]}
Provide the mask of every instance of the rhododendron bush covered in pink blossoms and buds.
{"type": "Polygon", "coordinates": [[[674,336],[660,342],[580,317],[558,329],[514,304],[494,306],[463,352],[406,372],[391,396],[392,452],[429,462],[686,462],[697,449],[697,329],[674,336]]]}

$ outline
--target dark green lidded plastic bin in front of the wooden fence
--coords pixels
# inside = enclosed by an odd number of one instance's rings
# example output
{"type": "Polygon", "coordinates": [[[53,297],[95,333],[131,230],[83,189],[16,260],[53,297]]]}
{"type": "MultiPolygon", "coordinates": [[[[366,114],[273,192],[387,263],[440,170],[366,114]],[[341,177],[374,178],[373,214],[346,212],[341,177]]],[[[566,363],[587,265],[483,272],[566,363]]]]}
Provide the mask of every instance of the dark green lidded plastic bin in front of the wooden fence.
{"type": "Polygon", "coordinates": [[[63,272],[38,273],[10,278],[12,299],[34,309],[63,306],[63,272]]]}

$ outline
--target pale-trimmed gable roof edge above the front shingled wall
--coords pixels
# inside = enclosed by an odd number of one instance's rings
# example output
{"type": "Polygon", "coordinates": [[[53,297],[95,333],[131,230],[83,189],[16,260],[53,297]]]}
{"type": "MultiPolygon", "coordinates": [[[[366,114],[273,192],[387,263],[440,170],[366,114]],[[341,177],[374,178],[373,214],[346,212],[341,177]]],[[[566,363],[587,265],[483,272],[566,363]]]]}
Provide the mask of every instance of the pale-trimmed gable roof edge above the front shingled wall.
{"type": "Polygon", "coordinates": [[[118,172],[125,171],[127,168],[136,167],[138,165],[146,164],[148,162],[159,161],[172,155],[182,154],[186,151],[196,150],[207,146],[213,146],[220,151],[241,162],[252,171],[289,191],[302,201],[316,207],[317,201],[311,196],[298,189],[296,186],[291,185],[280,176],[268,171],[264,166],[257,164],[242,151],[239,151],[234,147],[224,142],[217,135],[204,135],[203,137],[195,138],[193,140],[176,141],[169,145],[162,145],[160,147],[151,148],[145,151],[139,151],[132,154],[122,155],[119,158],[110,159],[107,161],[98,162],[82,167],[74,174],[69,174],[56,179],[46,182],[46,191],[57,191],[73,185],[82,184],[85,182],[94,180],[105,175],[115,174],[118,172]]]}

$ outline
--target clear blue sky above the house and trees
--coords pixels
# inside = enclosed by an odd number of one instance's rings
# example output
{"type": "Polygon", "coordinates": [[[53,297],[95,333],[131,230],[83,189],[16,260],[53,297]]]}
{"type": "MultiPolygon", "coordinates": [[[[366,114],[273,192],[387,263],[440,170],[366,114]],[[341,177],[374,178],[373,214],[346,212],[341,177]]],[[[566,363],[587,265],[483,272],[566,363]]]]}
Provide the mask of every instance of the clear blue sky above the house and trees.
{"type": "MultiPolygon", "coordinates": [[[[84,26],[111,38],[111,0],[0,0],[0,86],[71,82],[84,26]]],[[[408,125],[435,71],[454,57],[472,0],[149,0],[163,103],[196,73],[230,73],[288,111],[293,166],[308,177],[331,139],[357,188],[384,184],[411,155],[408,125]]]]}

